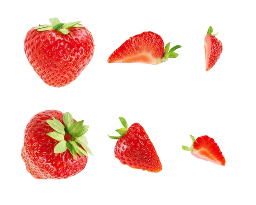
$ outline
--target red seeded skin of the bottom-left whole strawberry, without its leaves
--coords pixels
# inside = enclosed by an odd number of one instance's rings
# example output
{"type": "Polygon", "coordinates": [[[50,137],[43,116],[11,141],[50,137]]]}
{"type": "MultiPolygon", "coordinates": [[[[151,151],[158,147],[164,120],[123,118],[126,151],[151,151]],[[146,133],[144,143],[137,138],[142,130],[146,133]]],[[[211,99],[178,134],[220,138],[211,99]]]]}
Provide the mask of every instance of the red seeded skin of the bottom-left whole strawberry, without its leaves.
{"type": "MultiPolygon", "coordinates": [[[[51,118],[54,117],[64,125],[63,115],[58,110],[45,110],[32,117],[27,124],[21,156],[27,171],[36,179],[65,179],[74,176],[85,168],[88,161],[88,156],[85,153],[75,154],[74,157],[70,152],[72,148],[55,153],[54,148],[59,141],[48,135],[50,132],[56,133],[56,131],[47,123],[47,120],[51,121],[51,118]]],[[[76,123],[75,120],[72,119],[72,121],[76,123]]],[[[68,137],[70,135],[65,134],[65,140],[68,137]]],[[[88,152],[91,153],[90,150],[88,152]]]]}

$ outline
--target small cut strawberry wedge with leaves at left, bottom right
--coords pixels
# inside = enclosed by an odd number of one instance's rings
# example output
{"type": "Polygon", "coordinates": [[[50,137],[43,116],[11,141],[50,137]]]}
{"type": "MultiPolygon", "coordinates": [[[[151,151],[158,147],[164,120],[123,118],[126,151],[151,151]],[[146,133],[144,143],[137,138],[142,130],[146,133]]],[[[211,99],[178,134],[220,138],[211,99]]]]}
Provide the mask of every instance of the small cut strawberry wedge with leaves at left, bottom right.
{"type": "Polygon", "coordinates": [[[192,139],[191,147],[182,146],[183,150],[190,151],[192,155],[199,159],[210,161],[222,166],[225,165],[225,158],[214,139],[207,135],[198,137],[196,140],[192,135],[190,135],[190,137],[192,139]]]}

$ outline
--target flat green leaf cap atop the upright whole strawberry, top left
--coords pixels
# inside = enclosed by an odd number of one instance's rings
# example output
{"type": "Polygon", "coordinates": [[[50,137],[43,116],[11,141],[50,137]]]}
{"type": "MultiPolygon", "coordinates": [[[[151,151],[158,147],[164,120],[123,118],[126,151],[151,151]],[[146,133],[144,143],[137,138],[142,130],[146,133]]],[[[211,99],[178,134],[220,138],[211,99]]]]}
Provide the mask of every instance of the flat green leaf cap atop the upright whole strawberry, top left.
{"type": "Polygon", "coordinates": [[[76,22],[70,22],[67,24],[61,23],[58,18],[50,18],[49,21],[52,24],[45,24],[43,26],[39,25],[36,26],[34,29],[37,31],[48,31],[48,30],[56,30],[60,31],[64,35],[67,35],[71,27],[77,27],[77,28],[82,28],[85,27],[81,24],[79,24],[81,21],[76,21],[76,22]]]}

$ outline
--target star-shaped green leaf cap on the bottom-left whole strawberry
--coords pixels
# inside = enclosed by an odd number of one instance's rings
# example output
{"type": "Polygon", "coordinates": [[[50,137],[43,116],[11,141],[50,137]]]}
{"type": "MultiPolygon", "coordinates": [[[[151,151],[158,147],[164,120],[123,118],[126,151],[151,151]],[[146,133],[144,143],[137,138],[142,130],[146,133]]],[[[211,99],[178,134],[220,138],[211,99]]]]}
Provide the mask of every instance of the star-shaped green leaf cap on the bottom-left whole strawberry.
{"type": "Polygon", "coordinates": [[[65,126],[61,123],[61,121],[58,121],[54,117],[46,120],[49,126],[55,130],[47,133],[47,135],[59,141],[54,148],[54,153],[62,153],[68,149],[75,159],[77,159],[76,154],[87,156],[88,152],[89,154],[93,155],[87,146],[87,138],[84,136],[88,130],[88,126],[83,125],[83,120],[74,122],[74,119],[69,112],[65,112],[62,119],[65,126]]]}

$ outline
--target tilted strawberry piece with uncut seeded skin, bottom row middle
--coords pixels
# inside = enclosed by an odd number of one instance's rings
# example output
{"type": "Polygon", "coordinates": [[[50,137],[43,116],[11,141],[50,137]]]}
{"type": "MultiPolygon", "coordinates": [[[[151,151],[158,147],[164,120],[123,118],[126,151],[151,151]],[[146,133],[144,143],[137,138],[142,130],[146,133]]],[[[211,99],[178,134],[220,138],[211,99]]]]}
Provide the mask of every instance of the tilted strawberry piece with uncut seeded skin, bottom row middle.
{"type": "Polygon", "coordinates": [[[134,123],[128,128],[126,120],[123,117],[119,119],[124,128],[116,131],[121,136],[108,135],[111,139],[118,139],[115,145],[115,157],[131,168],[160,172],[162,164],[144,128],[139,123],[134,123]]]}

